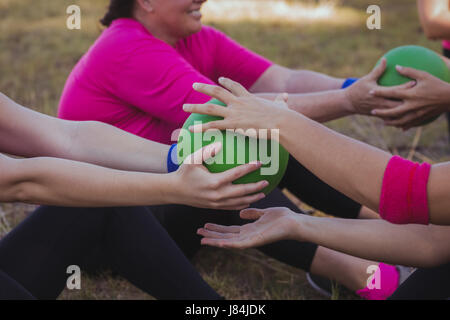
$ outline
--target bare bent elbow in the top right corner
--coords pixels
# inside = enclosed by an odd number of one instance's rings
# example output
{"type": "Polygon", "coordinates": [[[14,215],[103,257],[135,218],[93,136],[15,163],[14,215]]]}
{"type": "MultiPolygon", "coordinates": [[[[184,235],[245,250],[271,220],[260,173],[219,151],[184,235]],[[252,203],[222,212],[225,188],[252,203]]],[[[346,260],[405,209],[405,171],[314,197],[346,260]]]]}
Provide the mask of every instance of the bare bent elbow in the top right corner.
{"type": "Polygon", "coordinates": [[[449,0],[418,0],[420,22],[428,38],[450,39],[449,0]]]}

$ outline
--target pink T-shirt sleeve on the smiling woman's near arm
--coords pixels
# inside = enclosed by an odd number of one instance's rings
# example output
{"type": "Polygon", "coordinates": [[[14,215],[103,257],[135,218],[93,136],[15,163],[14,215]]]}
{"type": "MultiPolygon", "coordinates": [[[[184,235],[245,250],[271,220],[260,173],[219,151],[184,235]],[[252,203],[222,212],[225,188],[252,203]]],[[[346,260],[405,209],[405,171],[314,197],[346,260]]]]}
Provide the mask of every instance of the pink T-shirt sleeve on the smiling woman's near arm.
{"type": "Polygon", "coordinates": [[[184,103],[204,103],[210,97],[192,89],[194,82],[213,84],[173,48],[145,43],[111,73],[112,92],[125,103],[163,121],[180,124],[184,103]]]}

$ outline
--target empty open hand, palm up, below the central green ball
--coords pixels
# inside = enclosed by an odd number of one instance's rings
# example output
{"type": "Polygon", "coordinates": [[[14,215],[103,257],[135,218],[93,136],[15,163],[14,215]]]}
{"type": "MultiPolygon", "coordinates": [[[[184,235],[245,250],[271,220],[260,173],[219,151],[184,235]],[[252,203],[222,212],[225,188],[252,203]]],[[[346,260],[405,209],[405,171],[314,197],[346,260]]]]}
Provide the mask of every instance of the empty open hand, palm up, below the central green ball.
{"type": "Polygon", "coordinates": [[[241,218],[256,220],[243,226],[222,226],[207,223],[197,233],[203,236],[201,243],[221,248],[245,249],[272,242],[297,239],[298,214],[288,208],[246,209],[241,218]]]}

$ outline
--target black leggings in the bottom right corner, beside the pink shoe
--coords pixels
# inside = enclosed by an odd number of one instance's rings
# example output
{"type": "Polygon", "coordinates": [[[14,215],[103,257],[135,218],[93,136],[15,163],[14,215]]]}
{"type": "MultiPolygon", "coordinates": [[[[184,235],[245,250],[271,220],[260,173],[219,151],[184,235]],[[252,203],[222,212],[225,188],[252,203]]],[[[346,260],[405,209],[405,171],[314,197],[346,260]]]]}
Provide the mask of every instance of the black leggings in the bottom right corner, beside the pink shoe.
{"type": "Polygon", "coordinates": [[[416,270],[390,300],[442,300],[450,297],[450,263],[416,270]]]}

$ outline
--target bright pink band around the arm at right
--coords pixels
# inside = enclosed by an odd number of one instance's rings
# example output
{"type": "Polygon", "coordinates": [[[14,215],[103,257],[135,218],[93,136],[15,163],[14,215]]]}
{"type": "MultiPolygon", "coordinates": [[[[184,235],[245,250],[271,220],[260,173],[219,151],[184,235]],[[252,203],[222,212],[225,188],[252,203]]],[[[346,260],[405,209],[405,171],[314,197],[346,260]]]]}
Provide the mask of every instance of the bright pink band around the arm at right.
{"type": "Polygon", "coordinates": [[[384,172],[380,215],[397,224],[429,223],[427,183],[431,166],[394,156],[384,172]]]}

